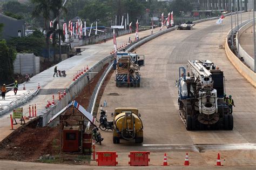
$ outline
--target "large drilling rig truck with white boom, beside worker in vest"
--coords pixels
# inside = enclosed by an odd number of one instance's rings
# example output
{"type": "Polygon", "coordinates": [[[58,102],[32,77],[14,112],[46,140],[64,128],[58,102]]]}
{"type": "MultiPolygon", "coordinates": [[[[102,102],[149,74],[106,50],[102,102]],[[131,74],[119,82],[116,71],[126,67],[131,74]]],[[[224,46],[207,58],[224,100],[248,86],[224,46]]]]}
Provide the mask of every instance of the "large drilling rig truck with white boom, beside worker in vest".
{"type": "Polygon", "coordinates": [[[190,130],[233,130],[233,116],[224,102],[223,71],[210,60],[191,60],[179,67],[178,105],[181,120],[190,130]]]}

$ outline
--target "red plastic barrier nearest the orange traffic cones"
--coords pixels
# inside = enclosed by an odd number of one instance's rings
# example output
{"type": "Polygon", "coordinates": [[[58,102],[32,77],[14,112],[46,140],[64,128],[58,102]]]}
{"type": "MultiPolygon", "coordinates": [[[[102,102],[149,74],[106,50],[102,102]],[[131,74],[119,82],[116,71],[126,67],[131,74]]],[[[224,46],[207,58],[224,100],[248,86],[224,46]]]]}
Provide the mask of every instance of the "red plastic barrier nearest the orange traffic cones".
{"type": "Polygon", "coordinates": [[[131,151],[128,157],[130,158],[131,166],[149,166],[150,151],[131,151]]]}

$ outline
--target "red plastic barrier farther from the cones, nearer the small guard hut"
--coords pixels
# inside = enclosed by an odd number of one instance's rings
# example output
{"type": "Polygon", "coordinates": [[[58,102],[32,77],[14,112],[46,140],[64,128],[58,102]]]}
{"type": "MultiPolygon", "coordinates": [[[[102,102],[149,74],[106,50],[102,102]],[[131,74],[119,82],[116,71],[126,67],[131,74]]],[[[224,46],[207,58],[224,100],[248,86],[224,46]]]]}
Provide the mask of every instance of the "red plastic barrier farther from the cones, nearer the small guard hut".
{"type": "Polygon", "coordinates": [[[96,152],[98,158],[98,166],[116,166],[117,162],[117,152],[96,152]]]}

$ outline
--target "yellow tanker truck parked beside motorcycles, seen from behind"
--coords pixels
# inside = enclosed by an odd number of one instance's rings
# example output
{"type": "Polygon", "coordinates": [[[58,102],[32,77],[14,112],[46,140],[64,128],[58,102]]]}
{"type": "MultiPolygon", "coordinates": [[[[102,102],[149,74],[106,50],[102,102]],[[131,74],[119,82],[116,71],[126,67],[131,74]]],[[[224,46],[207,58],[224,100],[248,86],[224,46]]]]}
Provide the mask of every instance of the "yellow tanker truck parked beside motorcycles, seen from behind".
{"type": "Polygon", "coordinates": [[[138,108],[116,108],[112,116],[114,144],[119,144],[120,139],[135,139],[136,144],[143,142],[143,123],[138,108]]]}

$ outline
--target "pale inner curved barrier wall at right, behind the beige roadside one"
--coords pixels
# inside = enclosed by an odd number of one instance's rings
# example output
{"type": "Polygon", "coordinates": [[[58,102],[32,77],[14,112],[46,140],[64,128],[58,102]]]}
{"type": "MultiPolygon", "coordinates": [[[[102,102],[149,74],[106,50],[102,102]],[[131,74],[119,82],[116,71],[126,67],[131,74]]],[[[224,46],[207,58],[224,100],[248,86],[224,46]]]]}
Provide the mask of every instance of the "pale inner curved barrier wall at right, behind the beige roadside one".
{"type": "Polygon", "coordinates": [[[242,46],[241,44],[238,44],[238,38],[240,38],[240,36],[242,35],[243,32],[245,32],[248,28],[250,28],[251,26],[253,25],[253,21],[252,19],[250,21],[248,21],[247,24],[241,26],[241,28],[239,29],[239,37],[238,35],[236,35],[235,39],[236,39],[236,45],[237,45],[237,48],[238,48],[238,45],[239,45],[239,55],[240,57],[244,58],[244,61],[245,63],[250,66],[250,69],[253,70],[254,69],[254,59],[248,55],[248,53],[242,49],[242,46]],[[237,38],[238,37],[238,38],[237,38]]]}

